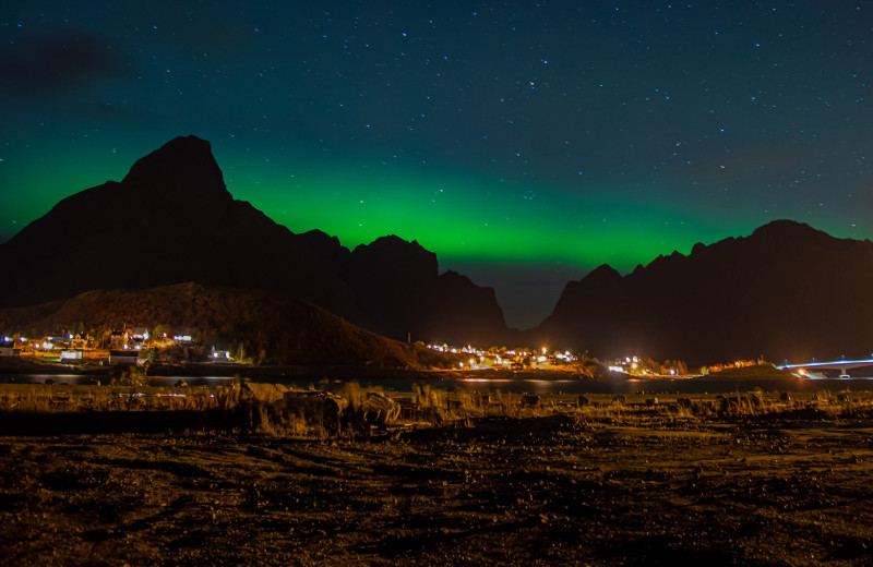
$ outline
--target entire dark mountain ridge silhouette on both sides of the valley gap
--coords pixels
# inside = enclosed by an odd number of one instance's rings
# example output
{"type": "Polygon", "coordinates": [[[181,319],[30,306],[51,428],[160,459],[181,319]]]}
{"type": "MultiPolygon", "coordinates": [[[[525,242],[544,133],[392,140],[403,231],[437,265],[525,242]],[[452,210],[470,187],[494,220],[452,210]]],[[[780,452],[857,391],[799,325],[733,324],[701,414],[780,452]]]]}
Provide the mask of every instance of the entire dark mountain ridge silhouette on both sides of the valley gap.
{"type": "Polygon", "coordinates": [[[64,198],[0,244],[0,262],[9,266],[0,306],[195,281],[298,298],[399,340],[524,341],[692,363],[873,351],[869,241],[779,220],[626,276],[600,266],[569,282],[552,314],[519,335],[493,289],[440,274],[436,256],[415,241],[390,236],[349,251],[235,201],[208,142],[194,136],[137,160],[121,182],[64,198]]]}

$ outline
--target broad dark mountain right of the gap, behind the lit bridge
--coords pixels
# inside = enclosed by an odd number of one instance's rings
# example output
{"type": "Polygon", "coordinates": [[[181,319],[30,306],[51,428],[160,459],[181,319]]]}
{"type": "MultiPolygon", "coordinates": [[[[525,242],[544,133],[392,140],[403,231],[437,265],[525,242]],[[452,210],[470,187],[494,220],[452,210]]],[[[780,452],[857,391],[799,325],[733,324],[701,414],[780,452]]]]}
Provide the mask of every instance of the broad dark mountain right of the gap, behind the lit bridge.
{"type": "Polygon", "coordinates": [[[777,220],[695,244],[622,277],[600,266],[564,288],[531,336],[600,355],[692,363],[873,352],[873,243],[777,220]]]}

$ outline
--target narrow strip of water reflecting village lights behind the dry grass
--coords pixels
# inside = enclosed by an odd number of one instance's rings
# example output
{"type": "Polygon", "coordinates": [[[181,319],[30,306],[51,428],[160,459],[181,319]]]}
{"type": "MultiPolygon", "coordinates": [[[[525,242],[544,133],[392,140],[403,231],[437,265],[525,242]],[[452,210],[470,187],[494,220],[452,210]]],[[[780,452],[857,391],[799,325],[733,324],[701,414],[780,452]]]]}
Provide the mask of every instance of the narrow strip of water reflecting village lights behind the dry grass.
{"type": "MultiPolygon", "coordinates": [[[[96,378],[103,385],[111,383],[111,376],[79,376],[74,374],[29,374],[17,376],[0,376],[0,383],[17,382],[22,384],[88,384],[96,378]]],[[[228,385],[235,378],[231,376],[154,376],[148,377],[153,386],[174,386],[183,379],[189,386],[222,386],[228,385]]],[[[718,379],[709,376],[697,378],[662,378],[662,379],[629,379],[626,376],[610,374],[602,381],[576,379],[488,379],[476,378],[469,381],[427,381],[427,379],[288,379],[285,376],[260,378],[254,382],[285,384],[294,388],[315,388],[338,390],[347,382],[357,382],[362,387],[376,386],[392,391],[411,391],[415,384],[429,384],[431,387],[456,391],[471,389],[476,391],[504,391],[513,394],[636,394],[636,393],[663,393],[663,394],[728,394],[733,391],[750,391],[762,389],[764,391],[798,391],[812,393],[818,390],[852,390],[873,391],[873,378],[824,378],[824,379],[718,379]]]]}

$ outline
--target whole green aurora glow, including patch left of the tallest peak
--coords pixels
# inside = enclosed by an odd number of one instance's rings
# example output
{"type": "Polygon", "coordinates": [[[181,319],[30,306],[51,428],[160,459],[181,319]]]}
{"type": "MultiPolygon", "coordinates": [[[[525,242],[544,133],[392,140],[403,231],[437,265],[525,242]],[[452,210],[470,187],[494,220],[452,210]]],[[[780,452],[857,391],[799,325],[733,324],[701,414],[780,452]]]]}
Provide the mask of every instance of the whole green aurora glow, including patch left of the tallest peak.
{"type": "MultiPolygon", "coordinates": [[[[8,167],[5,182],[25,190],[22,198],[8,200],[7,214],[20,229],[44,215],[47,205],[107,179],[121,180],[145,153],[133,146],[116,146],[99,161],[82,155],[86,152],[55,147],[50,168],[8,167]]],[[[295,232],[323,230],[350,249],[396,234],[435,252],[443,266],[553,262],[589,269],[609,263],[626,270],[731,233],[694,222],[695,215],[675,206],[632,201],[631,190],[605,184],[573,192],[452,174],[436,166],[380,169],[351,160],[278,162],[215,153],[235,198],[251,202],[295,232]]]]}

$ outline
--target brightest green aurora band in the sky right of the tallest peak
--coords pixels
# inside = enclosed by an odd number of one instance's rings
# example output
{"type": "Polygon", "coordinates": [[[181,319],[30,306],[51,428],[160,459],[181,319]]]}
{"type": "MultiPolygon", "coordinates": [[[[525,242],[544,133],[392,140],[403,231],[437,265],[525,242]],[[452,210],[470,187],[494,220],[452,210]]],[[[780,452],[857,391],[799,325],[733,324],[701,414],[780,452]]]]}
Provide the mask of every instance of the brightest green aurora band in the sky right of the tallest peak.
{"type": "Polygon", "coordinates": [[[284,191],[261,190],[249,198],[291,230],[321,229],[351,248],[393,233],[417,240],[444,262],[609,262],[627,268],[690,248],[702,228],[684,225],[673,210],[642,203],[593,202],[547,191],[510,198],[503,196],[505,186],[475,178],[385,179],[313,170],[295,173],[291,183],[262,177],[260,185],[282,188],[283,182],[284,191]]]}

